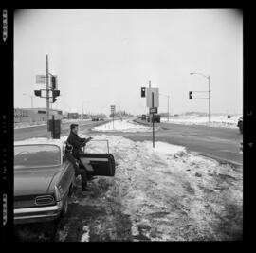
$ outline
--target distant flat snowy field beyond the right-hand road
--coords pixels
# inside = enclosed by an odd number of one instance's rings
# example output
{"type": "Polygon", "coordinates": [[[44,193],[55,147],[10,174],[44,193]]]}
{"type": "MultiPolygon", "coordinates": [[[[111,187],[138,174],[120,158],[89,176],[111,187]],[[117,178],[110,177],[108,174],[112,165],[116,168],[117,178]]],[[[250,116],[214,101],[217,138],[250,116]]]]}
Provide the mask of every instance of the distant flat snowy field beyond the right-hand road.
{"type": "Polygon", "coordinates": [[[174,123],[174,124],[185,124],[185,125],[205,125],[211,127],[227,127],[227,128],[237,128],[239,116],[228,118],[227,115],[212,115],[201,116],[193,114],[190,116],[182,115],[180,117],[161,117],[161,122],[164,123],[174,123]]]}

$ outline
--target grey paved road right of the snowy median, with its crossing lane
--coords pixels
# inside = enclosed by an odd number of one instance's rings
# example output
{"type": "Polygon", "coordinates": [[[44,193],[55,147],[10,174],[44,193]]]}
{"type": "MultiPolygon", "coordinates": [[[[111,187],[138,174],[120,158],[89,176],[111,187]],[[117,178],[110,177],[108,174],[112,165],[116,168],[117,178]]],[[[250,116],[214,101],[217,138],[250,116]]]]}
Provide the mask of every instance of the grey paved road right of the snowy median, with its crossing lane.
{"type": "MultiPolygon", "coordinates": [[[[135,121],[149,125],[145,121],[137,119],[135,121]]],[[[243,154],[239,154],[243,136],[238,129],[170,123],[156,123],[155,127],[159,127],[159,130],[155,132],[155,141],[185,146],[190,152],[203,154],[219,161],[243,164],[243,154]]],[[[99,132],[91,132],[91,135],[93,134],[99,134],[99,132]]],[[[107,133],[104,134],[107,135],[107,133]]],[[[113,133],[109,135],[113,135],[113,133]]],[[[152,132],[115,132],[115,135],[124,136],[134,141],[152,141],[152,132]]]]}

